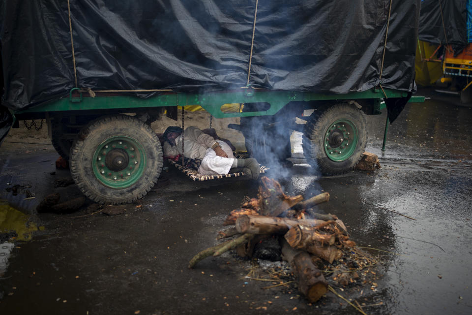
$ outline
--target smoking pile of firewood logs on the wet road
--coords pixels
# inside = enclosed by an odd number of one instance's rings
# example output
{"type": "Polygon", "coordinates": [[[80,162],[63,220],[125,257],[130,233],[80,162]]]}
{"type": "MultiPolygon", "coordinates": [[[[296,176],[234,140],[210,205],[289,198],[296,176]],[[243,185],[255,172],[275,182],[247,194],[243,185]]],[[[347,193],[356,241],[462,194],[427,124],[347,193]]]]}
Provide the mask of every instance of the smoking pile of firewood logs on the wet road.
{"type": "Polygon", "coordinates": [[[229,227],[218,233],[219,239],[237,237],[199,252],[188,267],[193,268],[207,256],[218,256],[232,249],[241,256],[251,257],[256,244],[277,235],[282,243],[282,258],[292,265],[298,290],[310,302],[316,302],[328,288],[319,269],[321,262],[333,263],[355,244],[336,216],[318,214],[311,209],[328,201],[329,193],[303,200],[301,195],[286,195],[275,180],[263,177],[261,183],[257,198],[246,200],[241,208],[233,210],[224,222],[229,227]]]}

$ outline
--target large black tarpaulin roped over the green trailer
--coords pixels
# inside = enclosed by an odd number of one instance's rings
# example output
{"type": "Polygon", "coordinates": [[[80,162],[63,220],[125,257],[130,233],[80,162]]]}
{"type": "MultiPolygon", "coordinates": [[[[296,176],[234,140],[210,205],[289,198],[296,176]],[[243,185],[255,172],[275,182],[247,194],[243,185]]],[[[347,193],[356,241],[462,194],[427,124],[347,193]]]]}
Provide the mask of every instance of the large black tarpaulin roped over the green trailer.
{"type": "MultiPolygon", "coordinates": [[[[382,83],[413,91],[419,6],[259,0],[249,84],[337,94],[382,83]]],[[[19,110],[65,96],[76,76],[78,87],[98,90],[244,87],[255,9],[256,0],[70,0],[73,54],[67,0],[2,0],[2,104],[19,110]]]]}

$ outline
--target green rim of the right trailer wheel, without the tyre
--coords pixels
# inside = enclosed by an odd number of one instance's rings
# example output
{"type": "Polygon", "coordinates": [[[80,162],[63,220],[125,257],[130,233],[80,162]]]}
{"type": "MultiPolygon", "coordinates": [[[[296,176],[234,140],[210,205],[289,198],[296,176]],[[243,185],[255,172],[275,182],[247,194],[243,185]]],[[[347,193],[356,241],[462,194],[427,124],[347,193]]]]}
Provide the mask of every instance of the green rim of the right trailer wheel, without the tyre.
{"type": "Polygon", "coordinates": [[[359,135],[355,125],[340,119],[331,124],[324,133],[324,152],[336,162],[342,162],[354,153],[359,135]]]}

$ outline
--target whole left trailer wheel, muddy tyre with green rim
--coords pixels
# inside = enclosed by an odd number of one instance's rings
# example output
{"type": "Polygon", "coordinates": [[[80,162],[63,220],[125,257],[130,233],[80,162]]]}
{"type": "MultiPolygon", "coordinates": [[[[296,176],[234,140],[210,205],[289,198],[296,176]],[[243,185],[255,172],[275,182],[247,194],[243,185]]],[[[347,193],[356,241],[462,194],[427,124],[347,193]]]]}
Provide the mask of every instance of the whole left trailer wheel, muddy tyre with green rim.
{"type": "Polygon", "coordinates": [[[126,115],[99,118],[74,140],[70,172],[98,203],[122,204],[145,196],[162,169],[162,148],[150,126],[126,115]]]}

